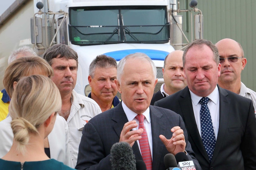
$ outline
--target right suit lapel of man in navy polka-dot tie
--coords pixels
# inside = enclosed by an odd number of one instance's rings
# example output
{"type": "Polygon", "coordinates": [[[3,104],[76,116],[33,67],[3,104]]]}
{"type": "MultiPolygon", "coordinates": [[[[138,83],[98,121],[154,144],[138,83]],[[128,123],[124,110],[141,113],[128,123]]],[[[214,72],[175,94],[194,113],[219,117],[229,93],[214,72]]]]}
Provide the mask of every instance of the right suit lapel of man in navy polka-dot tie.
{"type": "Polygon", "coordinates": [[[223,143],[223,139],[225,136],[225,132],[227,129],[229,110],[230,110],[230,101],[231,99],[228,97],[228,93],[223,89],[219,88],[219,132],[217,136],[217,141],[213,153],[212,162],[217,158],[221,145],[223,143]]]}

